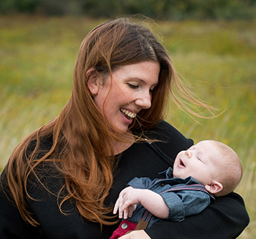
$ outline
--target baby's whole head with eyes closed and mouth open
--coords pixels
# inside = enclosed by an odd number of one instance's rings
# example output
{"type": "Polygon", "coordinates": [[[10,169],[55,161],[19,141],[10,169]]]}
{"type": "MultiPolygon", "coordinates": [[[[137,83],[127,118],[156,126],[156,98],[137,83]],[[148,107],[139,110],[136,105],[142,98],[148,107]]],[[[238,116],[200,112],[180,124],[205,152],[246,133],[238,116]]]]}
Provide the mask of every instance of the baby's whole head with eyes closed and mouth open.
{"type": "Polygon", "coordinates": [[[200,141],[178,153],[173,176],[192,176],[217,197],[227,195],[241,181],[242,167],[236,152],[218,141],[200,141]]]}

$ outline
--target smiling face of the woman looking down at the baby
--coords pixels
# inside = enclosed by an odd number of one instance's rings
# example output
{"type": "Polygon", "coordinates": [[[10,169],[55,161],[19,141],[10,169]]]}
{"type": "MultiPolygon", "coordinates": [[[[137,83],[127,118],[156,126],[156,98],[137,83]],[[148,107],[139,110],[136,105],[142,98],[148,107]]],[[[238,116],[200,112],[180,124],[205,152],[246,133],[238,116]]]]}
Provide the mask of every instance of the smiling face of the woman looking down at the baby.
{"type": "Polygon", "coordinates": [[[117,130],[126,132],[136,114],[151,107],[151,93],[158,83],[160,66],[154,61],[143,61],[118,66],[94,89],[94,102],[106,119],[117,130]]]}

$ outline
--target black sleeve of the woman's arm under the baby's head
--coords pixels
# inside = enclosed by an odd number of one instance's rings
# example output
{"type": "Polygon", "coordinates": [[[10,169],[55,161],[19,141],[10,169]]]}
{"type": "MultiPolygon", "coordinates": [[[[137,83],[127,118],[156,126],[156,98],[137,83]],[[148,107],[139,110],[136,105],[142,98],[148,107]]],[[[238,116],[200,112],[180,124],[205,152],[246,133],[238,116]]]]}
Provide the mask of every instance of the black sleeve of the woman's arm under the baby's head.
{"type": "Polygon", "coordinates": [[[244,200],[232,192],[225,197],[217,197],[202,213],[188,216],[183,222],[153,224],[145,231],[152,239],[237,238],[249,224],[244,200]]]}

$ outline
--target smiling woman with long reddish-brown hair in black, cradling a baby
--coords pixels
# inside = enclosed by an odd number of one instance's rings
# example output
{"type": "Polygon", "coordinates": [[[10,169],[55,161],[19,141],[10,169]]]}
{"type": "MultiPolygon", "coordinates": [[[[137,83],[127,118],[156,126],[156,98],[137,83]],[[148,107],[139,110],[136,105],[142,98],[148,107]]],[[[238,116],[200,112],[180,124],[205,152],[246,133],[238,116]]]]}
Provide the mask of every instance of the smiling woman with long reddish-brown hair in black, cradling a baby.
{"type": "MultiPolygon", "coordinates": [[[[118,227],[113,203],[126,183],[156,178],[170,164],[165,154],[174,159],[193,144],[162,121],[168,95],[180,103],[174,87],[204,105],[182,87],[165,48],[143,26],[117,19],[94,28],[73,78],[59,117],[23,140],[1,175],[0,238],[109,238],[118,227]]],[[[236,238],[248,223],[243,200],[232,193],[184,222],[129,237],[236,238]]]]}

